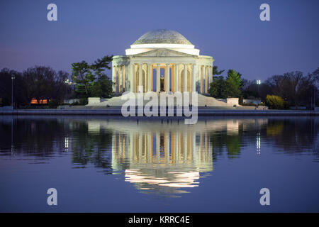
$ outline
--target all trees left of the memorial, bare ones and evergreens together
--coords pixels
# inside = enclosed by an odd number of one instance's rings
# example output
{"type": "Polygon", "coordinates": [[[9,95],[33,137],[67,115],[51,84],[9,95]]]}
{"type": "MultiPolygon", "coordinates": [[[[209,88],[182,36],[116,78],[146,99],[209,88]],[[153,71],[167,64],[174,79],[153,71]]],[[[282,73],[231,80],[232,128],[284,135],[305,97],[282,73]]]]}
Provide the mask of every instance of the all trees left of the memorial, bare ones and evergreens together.
{"type": "Polygon", "coordinates": [[[108,98],[113,95],[112,82],[105,73],[113,56],[105,56],[89,64],[85,61],[72,64],[72,74],[55,71],[51,67],[34,66],[23,72],[4,68],[0,71],[0,104],[10,106],[13,82],[13,105],[30,106],[31,99],[47,100],[52,106],[63,104],[65,99],[80,99],[86,104],[89,96],[108,98]],[[12,77],[14,79],[12,81],[12,77]]]}

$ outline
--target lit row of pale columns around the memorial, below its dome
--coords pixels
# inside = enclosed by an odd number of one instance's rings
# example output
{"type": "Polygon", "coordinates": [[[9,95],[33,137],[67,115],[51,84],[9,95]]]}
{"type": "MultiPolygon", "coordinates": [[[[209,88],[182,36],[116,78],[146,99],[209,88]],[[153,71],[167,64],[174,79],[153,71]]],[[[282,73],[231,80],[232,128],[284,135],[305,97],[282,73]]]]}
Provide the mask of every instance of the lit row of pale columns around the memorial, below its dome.
{"type": "Polygon", "coordinates": [[[213,67],[196,63],[143,63],[113,65],[113,91],[131,92],[198,92],[207,94],[213,81],[213,67]],[[161,70],[164,74],[161,75],[161,70]],[[153,77],[155,71],[156,77],[153,77]],[[161,87],[161,77],[164,80],[161,87]],[[163,78],[164,77],[164,78],[163,78]],[[138,86],[143,90],[138,91],[138,86]]]}

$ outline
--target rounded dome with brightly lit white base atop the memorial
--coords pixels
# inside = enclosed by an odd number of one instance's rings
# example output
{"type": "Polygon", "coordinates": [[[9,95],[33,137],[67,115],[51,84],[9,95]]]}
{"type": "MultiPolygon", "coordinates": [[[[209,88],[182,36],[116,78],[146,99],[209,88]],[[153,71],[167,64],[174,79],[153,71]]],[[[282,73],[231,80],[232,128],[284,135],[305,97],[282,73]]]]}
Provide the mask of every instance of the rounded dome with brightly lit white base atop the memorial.
{"type": "Polygon", "coordinates": [[[199,55],[199,50],[195,49],[195,46],[184,35],[167,29],[157,29],[145,33],[130,45],[130,49],[125,50],[125,55],[138,55],[158,48],[176,50],[189,55],[199,55]]]}

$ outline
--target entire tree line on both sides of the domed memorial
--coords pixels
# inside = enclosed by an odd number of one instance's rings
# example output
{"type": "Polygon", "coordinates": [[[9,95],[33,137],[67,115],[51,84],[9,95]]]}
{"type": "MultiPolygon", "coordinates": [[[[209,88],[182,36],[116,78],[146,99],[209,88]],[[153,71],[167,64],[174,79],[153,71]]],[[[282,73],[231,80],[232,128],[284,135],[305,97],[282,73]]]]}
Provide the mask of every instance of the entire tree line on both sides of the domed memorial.
{"type": "MultiPolygon", "coordinates": [[[[23,72],[4,68],[0,71],[0,104],[11,105],[11,77],[13,79],[13,97],[16,108],[30,106],[31,99],[50,100],[55,106],[63,104],[64,99],[80,99],[86,104],[87,98],[97,96],[109,98],[113,96],[113,82],[106,75],[110,70],[113,56],[104,56],[89,64],[86,61],[74,62],[72,74],[62,70],[55,71],[51,67],[29,67],[23,72]]],[[[228,97],[242,99],[261,99],[273,109],[284,109],[289,106],[306,106],[313,108],[319,105],[318,96],[319,68],[314,72],[286,72],[269,77],[257,84],[256,80],[242,78],[235,70],[218,70],[213,67],[213,81],[208,93],[217,98],[228,97]],[[223,75],[225,74],[225,76],[223,75]]]]}

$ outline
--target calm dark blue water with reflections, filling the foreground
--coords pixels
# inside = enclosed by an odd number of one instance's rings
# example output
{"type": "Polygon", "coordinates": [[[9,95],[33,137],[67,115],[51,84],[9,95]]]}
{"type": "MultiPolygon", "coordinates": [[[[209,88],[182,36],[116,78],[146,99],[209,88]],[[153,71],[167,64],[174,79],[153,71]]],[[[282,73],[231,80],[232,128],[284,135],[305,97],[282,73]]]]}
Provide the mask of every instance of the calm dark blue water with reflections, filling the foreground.
{"type": "Polygon", "coordinates": [[[318,117],[0,116],[0,133],[1,212],[319,211],[318,117]]]}

